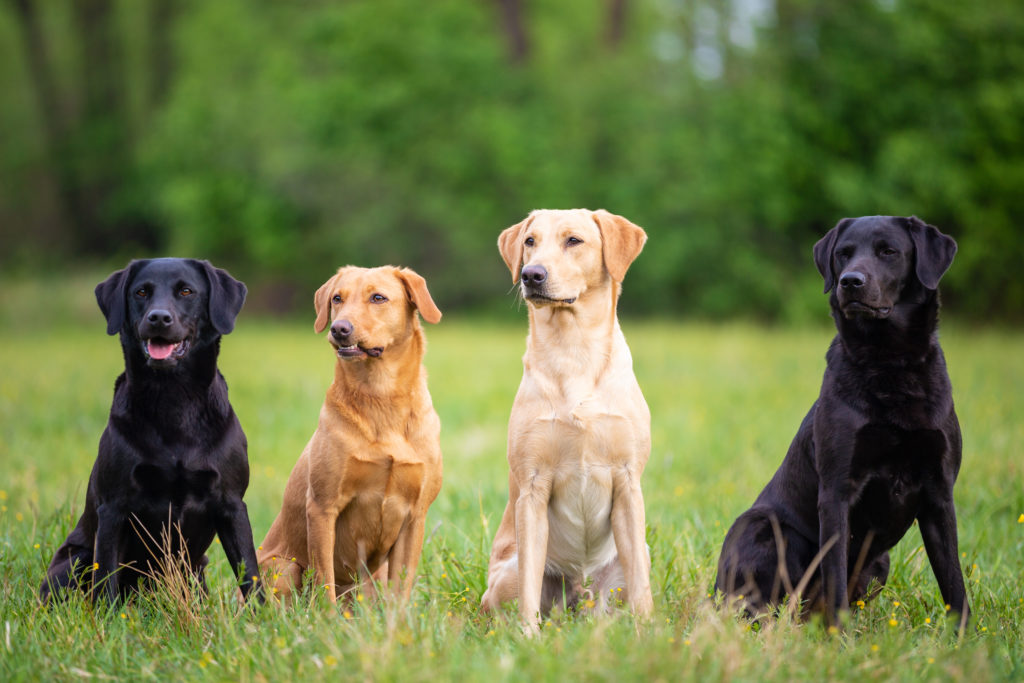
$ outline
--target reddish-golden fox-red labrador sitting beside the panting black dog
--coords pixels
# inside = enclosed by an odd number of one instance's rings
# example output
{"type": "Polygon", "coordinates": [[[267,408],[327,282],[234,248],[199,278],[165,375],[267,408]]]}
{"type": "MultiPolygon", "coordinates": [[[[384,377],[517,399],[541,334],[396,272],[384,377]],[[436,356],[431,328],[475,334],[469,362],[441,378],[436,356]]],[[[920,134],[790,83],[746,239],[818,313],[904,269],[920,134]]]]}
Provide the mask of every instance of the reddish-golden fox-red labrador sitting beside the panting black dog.
{"type": "Polygon", "coordinates": [[[432,324],[441,312],[423,278],[392,266],[343,267],[313,303],[313,329],[331,327],[334,382],[260,566],[286,601],[309,567],[332,603],[359,586],[374,591],[369,579],[386,579],[408,600],[427,508],[441,487],[440,419],[417,311],[432,324]]]}

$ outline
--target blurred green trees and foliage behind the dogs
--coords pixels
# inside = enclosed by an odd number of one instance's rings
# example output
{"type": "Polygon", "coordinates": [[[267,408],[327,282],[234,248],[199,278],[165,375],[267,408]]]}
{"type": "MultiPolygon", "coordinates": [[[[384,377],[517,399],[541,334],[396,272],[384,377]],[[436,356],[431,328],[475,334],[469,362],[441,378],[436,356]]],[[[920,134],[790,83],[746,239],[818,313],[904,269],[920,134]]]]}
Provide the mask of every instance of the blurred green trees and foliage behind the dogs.
{"type": "Polygon", "coordinates": [[[947,310],[1022,322],[1024,4],[0,0],[4,282],[196,256],[306,315],[395,263],[518,315],[498,233],[572,207],[648,231],[627,314],[821,318],[814,242],[916,214],[947,310]]]}

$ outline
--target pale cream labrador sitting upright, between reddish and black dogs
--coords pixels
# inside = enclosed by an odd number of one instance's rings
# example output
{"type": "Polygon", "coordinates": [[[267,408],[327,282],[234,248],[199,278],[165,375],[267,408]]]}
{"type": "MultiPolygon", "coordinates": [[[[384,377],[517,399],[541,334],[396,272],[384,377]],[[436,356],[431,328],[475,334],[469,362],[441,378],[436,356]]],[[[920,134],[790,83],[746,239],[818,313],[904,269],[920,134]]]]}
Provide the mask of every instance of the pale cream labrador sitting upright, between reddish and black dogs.
{"type": "Polygon", "coordinates": [[[583,209],[535,211],[498,240],[529,336],[481,609],[518,598],[528,634],[581,598],[604,609],[613,595],[640,616],[652,608],[640,488],[650,412],[615,312],[646,240],[622,216],[583,209]]]}

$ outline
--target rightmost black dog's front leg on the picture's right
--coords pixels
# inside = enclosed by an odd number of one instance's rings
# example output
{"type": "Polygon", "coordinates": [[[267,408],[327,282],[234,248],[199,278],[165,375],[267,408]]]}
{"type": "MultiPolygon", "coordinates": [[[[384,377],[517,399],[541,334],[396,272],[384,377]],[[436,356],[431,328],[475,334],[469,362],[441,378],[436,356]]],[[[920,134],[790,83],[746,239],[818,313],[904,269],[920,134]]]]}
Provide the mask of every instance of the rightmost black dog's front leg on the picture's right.
{"type": "MultiPolygon", "coordinates": [[[[951,490],[951,486],[949,487],[951,490]]],[[[921,514],[921,538],[925,541],[925,552],[932,564],[932,571],[939,584],[942,599],[950,609],[961,615],[961,628],[967,626],[970,607],[967,590],[964,588],[964,572],[959,563],[959,544],[956,539],[956,511],[950,495],[933,492],[926,501],[921,514]]]]}

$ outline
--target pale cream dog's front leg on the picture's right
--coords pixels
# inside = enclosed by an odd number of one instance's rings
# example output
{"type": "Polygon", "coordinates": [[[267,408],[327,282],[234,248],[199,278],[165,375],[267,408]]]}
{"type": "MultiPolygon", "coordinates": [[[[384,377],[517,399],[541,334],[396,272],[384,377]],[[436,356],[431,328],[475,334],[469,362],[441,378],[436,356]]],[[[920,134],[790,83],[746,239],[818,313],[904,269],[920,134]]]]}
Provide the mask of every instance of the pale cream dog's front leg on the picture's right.
{"type": "Polygon", "coordinates": [[[629,466],[623,467],[614,473],[612,486],[611,533],[626,577],[626,595],[633,613],[646,616],[654,607],[654,599],[650,593],[647,523],[639,476],[629,466]]]}

